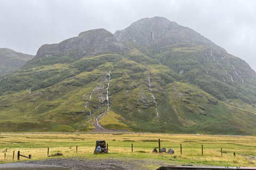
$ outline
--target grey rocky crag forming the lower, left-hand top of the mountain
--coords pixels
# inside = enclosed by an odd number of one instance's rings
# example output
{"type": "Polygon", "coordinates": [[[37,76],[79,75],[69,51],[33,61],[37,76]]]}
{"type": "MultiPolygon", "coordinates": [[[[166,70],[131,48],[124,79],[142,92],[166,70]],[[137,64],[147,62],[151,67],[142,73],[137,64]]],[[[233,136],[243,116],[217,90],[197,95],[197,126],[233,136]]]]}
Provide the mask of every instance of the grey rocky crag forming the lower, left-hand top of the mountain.
{"type": "Polygon", "coordinates": [[[51,56],[71,55],[82,58],[88,55],[122,53],[122,48],[114,35],[105,29],[95,29],[79,33],[59,44],[46,44],[38,49],[35,59],[51,56]]]}

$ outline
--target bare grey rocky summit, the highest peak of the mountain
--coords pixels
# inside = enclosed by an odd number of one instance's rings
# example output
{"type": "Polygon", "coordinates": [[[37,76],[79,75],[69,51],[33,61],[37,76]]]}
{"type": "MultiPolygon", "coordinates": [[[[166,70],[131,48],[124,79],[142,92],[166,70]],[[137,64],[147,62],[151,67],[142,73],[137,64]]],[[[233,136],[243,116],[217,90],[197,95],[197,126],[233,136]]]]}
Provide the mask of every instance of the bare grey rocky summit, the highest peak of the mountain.
{"type": "Polygon", "coordinates": [[[225,49],[215,45],[211,40],[200,35],[196,31],[182,27],[163,17],[145,18],[134,22],[124,30],[114,33],[116,39],[121,43],[129,42],[134,46],[152,49],[164,47],[176,43],[192,43],[209,47],[218,47],[219,50],[226,52],[225,49]]]}

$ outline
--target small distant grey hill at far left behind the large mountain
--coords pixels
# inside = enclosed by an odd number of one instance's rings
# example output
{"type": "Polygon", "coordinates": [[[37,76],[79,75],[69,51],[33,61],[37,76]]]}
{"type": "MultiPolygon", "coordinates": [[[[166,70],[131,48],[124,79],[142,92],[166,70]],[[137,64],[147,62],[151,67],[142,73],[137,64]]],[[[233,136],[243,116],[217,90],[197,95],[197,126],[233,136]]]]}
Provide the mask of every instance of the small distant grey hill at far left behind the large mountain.
{"type": "Polygon", "coordinates": [[[0,48],[0,76],[19,70],[33,57],[33,55],[17,53],[8,48],[0,48]]]}

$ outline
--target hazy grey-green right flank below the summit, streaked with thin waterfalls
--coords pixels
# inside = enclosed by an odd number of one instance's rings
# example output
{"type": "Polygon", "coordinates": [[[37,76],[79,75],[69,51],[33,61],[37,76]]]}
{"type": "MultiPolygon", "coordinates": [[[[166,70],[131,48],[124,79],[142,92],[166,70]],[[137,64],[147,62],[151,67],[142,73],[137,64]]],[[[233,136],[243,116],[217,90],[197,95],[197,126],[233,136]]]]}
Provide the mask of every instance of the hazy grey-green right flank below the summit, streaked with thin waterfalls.
{"type": "Polygon", "coordinates": [[[238,98],[255,103],[255,72],[238,57],[215,48],[182,43],[146,54],[220,100],[238,98]]]}

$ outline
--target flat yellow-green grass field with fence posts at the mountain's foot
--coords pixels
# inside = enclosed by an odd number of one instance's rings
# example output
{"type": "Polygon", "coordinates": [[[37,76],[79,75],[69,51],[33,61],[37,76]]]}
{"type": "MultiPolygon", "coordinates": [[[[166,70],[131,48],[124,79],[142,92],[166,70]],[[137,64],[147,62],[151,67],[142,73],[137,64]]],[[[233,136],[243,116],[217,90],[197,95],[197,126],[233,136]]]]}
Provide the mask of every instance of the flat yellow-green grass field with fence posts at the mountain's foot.
{"type": "MultiPolygon", "coordinates": [[[[165,165],[256,166],[256,137],[152,133],[1,133],[0,163],[17,162],[18,151],[21,155],[31,155],[31,160],[46,159],[48,147],[49,155],[61,152],[63,158],[134,158],[161,160],[165,165]],[[158,139],[161,139],[161,148],[172,148],[174,154],[152,153],[158,148],[158,139]],[[106,140],[108,154],[93,154],[96,140],[106,140]]],[[[28,159],[21,157],[20,160],[28,159]]]]}

